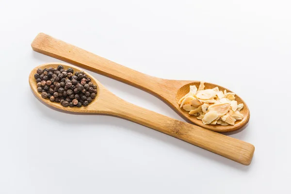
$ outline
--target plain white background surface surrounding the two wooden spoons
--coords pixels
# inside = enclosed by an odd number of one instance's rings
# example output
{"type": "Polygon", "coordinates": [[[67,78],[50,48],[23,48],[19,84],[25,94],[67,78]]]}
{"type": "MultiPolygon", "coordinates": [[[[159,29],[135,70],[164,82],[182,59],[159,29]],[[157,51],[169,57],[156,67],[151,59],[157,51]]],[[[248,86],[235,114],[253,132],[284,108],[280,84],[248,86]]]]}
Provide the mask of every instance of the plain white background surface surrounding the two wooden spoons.
{"type": "MultiPolygon", "coordinates": [[[[0,194],[290,194],[290,0],[0,0],[0,194]],[[249,166],[127,120],[54,111],[28,76],[59,60],[39,32],[143,73],[225,86],[247,103],[249,166]]],[[[183,120],[92,73],[114,94],[183,120]]]]}

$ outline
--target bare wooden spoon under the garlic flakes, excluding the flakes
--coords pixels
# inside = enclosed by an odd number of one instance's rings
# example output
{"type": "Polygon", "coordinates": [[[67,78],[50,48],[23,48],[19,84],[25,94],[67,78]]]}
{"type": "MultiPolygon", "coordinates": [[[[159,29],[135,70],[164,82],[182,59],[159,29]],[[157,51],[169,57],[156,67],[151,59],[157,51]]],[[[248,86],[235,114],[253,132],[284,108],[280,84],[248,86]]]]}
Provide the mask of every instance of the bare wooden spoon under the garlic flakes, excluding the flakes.
{"type": "MultiPolygon", "coordinates": [[[[190,85],[199,87],[200,81],[180,81],[180,80],[165,80],[161,78],[152,77],[128,67],[116,64],[105,58],[99,57],[86,50],[80,49],[73,45],[67,44],[61,40],[57,40],[47,34],[39,33],[32,42],[32,49],[42,54],[60,59],[70,64],[81,66],[90,71],[108,76],[118,81],[123,81],[137,88],[143,89],[162,100],[167,102],[170,106],[180,113],[184,118],[192,121],[195,125],[206,129],[226,132],[241,129],[250,118],[250,112],[245,102],[236,95],[238,103],[243,103],[244,107],[241,113],[244,115],[242,120],[237,120],[235,125],[221,126],[221,125],[204,125],[201,120],[188,112],[181,109],[178,101],[185,96],[190,88],[190,85]]],[[[226,88],[212,83],[205,83],[205,89],[218,87],[219,90],[224,91],[226,88]]],[[[227,92],[231,92],[226,89],[227,92]]]]}

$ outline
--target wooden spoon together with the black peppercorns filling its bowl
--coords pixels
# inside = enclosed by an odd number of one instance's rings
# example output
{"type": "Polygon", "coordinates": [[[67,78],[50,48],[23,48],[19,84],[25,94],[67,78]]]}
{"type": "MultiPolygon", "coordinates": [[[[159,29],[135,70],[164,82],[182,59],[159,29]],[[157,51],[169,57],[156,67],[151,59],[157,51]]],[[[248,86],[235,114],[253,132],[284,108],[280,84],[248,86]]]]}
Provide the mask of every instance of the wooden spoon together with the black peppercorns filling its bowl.
{"type": "Polygon", "coordinates": [[[254,154],[255,147],[249,143],[131,104],[73,65],[37,66],[29,83],[36,97],[63,111],[125,118],[244,165],[250,164],[254,154]]]}

